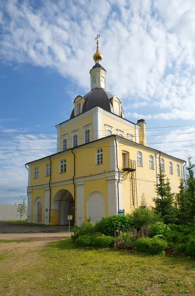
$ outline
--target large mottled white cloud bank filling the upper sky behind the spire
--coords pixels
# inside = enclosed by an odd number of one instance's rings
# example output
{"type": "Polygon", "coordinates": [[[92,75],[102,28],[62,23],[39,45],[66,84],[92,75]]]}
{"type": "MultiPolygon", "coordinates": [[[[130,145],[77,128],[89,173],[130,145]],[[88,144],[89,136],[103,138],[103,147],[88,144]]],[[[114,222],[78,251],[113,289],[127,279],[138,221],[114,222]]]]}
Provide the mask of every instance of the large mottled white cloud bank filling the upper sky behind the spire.
{"type": "Polygon", "coordinates": [[[8,0],[4,11],[2,60],[56,69],[88,89],[100,33],[107,89],[127,111],[146,100],[164,111],[144,118],[194,119],[194,0],[100,0],[98,9],[89,0],[41,1],[39,8],[8,0]]]}

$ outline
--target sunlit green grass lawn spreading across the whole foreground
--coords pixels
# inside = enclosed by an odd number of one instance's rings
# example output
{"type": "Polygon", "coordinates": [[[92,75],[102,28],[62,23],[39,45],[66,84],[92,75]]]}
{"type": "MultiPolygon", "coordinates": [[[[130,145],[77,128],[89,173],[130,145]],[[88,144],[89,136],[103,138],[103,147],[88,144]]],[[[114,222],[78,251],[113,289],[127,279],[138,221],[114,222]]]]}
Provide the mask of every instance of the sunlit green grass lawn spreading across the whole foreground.
{"type": "Polygon", "coordinates": [[[193,259],[76,249],[70,239],[50,243],[41,251],[16,250],[0,266],[0,295],[195,295],[193,259]]]}

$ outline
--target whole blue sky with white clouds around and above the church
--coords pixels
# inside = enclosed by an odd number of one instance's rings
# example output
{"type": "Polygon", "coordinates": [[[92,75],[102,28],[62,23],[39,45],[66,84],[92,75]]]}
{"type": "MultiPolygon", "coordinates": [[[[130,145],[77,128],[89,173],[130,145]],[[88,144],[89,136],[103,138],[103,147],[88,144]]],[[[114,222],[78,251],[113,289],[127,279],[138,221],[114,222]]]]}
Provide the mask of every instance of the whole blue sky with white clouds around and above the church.
{"type": "Polygon", "coordinates": [[[126,118],[146,120],[150,146],[195,157],[194,0],[98,3],[0,2],[0,204],[26,195],[26,162],[55,152],[55,125],[90,90],[97,33],[126,118]]]}

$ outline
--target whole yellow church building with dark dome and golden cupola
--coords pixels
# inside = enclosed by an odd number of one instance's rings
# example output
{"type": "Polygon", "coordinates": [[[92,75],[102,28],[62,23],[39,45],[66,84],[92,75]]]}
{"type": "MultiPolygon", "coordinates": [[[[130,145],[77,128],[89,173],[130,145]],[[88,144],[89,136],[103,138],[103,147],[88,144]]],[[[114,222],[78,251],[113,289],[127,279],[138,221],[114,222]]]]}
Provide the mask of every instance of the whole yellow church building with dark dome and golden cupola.
{"type": "MultiPolygon", "coordinates": [[[[146,123],[125,118],[106,90],[97,50],[91,90],[78,95],[70,118],[56,125],[57,153],[28,162],[28,222],[81,225],[153,205],[159,166],[178,192],[185,161],[148,147],[146,123]]],[[[176,206],[176,204],[175,204],[176,206]]]]}

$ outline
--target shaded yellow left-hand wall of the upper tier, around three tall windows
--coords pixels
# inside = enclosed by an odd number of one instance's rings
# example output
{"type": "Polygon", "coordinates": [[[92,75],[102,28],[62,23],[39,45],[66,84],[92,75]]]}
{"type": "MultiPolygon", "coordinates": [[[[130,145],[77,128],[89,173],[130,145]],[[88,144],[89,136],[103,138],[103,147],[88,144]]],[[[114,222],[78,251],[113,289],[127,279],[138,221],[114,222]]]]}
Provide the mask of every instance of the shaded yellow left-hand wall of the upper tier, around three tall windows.
{"type": "Polygon", "coordinates": [[[62,127],[60,129],[60,149],[62,149],[62,139],[63,139],[63,135],[65,135],[65,134],[68,134],[67,135],[67,139],[68,139],[67,148],[69,149],[69,148],[73,147],[71,132],[76,131],[77,129],[78,129],[78,146],[84,144],[84,129],[83,128],[88,124],[90,124],[90,141],[93,141],[93,130],[94,130],[94,128],[93,128],[93,114],[88,115],[82,119],[79,119],[79,116],[78,116],[78,120],[76,122],[70,123],[67,126],[62,127]]]}

